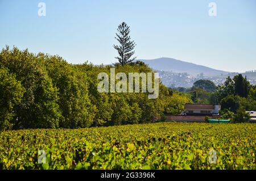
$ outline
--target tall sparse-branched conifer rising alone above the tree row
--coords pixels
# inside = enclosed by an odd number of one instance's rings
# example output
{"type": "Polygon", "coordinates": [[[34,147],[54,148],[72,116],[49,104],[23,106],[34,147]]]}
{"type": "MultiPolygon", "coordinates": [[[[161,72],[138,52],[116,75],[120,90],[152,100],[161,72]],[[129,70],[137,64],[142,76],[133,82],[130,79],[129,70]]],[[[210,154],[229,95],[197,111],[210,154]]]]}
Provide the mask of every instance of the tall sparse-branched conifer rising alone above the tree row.
{"type": "Polygon", "coordinates": [[[133,50],[135,47],[134,41],[131,41],[131,37],[129,36],[130,27],[127,26],[125,22],[120,24],[117,28],[117,37],[115,39],[118,40],[120,45],[114,45],[114,48],[118,51],[119,56],[115,57],[119,61],[121,65],[129,64],[134,61],[136,57],[131,58],[135,51],[133,50]]]}

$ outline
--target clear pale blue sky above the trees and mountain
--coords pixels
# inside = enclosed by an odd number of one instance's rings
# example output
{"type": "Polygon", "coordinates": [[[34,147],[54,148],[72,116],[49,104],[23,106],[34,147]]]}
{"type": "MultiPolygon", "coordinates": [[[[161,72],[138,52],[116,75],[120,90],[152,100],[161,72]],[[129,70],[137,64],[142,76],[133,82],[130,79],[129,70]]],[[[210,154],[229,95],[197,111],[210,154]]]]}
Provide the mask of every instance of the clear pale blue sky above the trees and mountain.
{"type": "Polygon", "coordinates": [[[59,54],[68,62],[110,64],[125,21],[137,58],[172,57],[227,71],[256,69],[254,0],[0,0],[0,48],[59,54]],[[38,3],[46,16],[38,16],[38,3]],[[217,16],[209,16],[216,2],[217,16]]]}

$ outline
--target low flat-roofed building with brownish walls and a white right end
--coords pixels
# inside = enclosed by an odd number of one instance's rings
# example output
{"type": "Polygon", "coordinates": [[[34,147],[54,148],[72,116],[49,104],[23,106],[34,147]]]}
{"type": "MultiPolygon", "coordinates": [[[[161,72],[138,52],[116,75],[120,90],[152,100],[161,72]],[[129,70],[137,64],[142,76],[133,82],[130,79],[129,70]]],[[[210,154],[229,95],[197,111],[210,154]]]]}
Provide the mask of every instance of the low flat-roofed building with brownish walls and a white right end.
{"type": "Polygon", "coordinates": [[[220,109],[219,104],[185,104],[184,113],[186,115],[218,115],[220,109]]]}

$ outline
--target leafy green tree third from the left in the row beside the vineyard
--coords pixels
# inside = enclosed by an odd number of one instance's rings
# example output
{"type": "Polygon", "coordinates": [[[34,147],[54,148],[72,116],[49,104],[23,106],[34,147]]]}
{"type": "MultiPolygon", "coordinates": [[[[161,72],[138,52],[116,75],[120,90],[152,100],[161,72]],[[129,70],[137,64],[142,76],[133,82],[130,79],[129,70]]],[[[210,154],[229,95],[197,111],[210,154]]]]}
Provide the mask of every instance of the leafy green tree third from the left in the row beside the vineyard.
{"type": "Polygon", "coordinates": [[[58,88],[60,127],[89,127],[96,107],[90,102],[88,78],[59,56],[41,55],[53,84],[58,88]]]}

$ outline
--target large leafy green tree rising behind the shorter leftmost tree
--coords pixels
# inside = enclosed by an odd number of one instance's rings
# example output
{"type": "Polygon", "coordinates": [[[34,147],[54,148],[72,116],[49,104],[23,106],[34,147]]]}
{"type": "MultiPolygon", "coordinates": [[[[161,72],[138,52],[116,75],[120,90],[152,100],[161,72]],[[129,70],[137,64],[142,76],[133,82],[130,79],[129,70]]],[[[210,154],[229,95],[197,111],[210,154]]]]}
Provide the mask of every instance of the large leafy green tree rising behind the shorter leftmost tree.
{"type": "Polygon", "coordinates": [[[15,74],[24,87],[21,102],[15,106],[14,128],[56,128],[61,116],[57,89],[52,85],[45,67],[28,50],[9,47],[0,53],[0,65],[15,74]]]}

